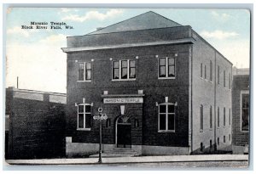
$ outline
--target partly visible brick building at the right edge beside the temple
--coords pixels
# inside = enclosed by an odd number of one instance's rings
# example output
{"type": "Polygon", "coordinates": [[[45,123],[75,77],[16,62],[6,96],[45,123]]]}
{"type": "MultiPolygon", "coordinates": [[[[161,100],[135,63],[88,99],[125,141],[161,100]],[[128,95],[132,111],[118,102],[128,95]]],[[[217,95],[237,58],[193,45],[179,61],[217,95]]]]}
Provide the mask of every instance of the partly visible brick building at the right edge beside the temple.
{"type": "Polygon", "coordinates": [[[232,89],[232,150],[234,154],[248,153],[249,144],[249,69],[235,69],[232,89]]]}

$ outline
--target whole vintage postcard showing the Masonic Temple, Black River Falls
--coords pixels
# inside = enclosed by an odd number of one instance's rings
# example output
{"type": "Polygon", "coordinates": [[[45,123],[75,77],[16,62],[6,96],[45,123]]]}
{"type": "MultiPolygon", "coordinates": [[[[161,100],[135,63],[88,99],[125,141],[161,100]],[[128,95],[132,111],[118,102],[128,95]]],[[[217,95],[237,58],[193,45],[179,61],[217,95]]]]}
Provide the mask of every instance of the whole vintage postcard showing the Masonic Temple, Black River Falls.
{"type": "Polygon", "coordinates": [[[248,167],[246,8],[8,8],[11,165],[248,167]]]}

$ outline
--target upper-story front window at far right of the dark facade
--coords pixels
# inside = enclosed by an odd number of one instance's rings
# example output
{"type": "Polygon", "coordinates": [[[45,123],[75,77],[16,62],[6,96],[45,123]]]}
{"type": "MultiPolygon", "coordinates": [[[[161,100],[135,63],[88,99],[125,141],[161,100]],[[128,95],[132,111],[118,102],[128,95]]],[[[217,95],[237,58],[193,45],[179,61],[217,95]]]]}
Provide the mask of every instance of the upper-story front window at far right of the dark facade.
{"type": "Polygon", "coordinates": [[[175,77],[175,59],[174,58],[160,58],[159,59],[159,77],[172,78],[175,77]]]}

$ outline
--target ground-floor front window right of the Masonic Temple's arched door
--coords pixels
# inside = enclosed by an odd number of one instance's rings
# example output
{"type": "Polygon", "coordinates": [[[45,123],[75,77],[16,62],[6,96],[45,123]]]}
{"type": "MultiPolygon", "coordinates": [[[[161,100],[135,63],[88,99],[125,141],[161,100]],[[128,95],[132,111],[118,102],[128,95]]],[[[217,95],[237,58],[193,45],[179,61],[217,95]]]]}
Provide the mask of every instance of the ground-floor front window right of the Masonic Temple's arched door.
{"type": "Polygon", "coordinates": [[[159,105],[159,131],[175,131],[174,104],[159,105]]]}

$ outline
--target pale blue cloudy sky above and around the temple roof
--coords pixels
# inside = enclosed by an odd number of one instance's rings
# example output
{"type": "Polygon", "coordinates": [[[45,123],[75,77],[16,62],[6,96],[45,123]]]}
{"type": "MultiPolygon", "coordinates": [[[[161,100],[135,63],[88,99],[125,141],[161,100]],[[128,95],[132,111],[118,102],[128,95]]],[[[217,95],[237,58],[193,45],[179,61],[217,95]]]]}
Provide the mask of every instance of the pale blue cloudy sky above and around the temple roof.
{"type": "Polygon", "coordinates": [[[66,93],[66,36],[80,36],[149,10],[191,25],[238,68],[249,67],[250,14],[244,9],[9,8],[6,87],[66,93]],[[22,30],[34,22],[66,22],[73,30],[22,30]]]}

